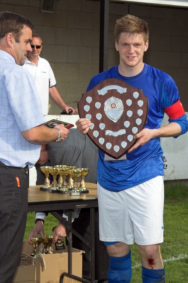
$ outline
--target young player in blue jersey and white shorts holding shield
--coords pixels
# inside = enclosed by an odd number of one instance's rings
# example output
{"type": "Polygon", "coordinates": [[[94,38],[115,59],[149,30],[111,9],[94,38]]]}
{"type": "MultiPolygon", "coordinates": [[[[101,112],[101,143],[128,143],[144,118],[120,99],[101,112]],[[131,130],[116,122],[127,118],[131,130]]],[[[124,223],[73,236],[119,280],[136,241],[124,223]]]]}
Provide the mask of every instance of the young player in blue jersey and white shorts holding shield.
{"type": "MultiPolygon", "coordinates": [[[[116,21],[115,48],[119,65],[94,76],[91,90],[107,78],[121,79],[141,88],[149,109],[143,130],[135,134],[137,143],[124,160],[105,161],[99,150],[97,181],[100,240],[110,257],[108,283],[130,282],[130,245],[137,244],[144,283],[165,282],[160,244],[163,242],[163,161],[160,137],[178,137],[188,130],[178,89],[166,73],[143,63],[148,49],[147,22],[126,15],[116,21]],[[166,113],[168,125],[161,127],[166,113]]],[[[91,121],[81,118],[77,128],[86,134],[91,121]]]]}

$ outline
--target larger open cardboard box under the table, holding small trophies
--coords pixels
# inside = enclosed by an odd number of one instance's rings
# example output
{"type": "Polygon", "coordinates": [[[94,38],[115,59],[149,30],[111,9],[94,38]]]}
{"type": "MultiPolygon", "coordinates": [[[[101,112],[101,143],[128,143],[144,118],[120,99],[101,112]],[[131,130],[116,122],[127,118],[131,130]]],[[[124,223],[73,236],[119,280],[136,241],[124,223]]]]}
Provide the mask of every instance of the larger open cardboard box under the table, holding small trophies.
{"type": "MultiPolygon", "coordinates": [[[[41,244],[40,247],[43,247],[41,244]]],[[[36,259],[36,283],[59,283],[60,275],[68,272],[68,247],[65,250],[55,250],[52,244],[53,254],[41,254],[36,259]]],[[[27,241],[23,242],[22,252],[30,255],[32,245],[27,241]]],[[[82,277],[82,251],[74,249],[72,252],[72,274],[82,277]]],[[[78,281],[69,277],[64,278],[64,283],[76,283],[78,281]]],[[[27,282],[28,283],[28,282],[27,282]]],[[[29,282],[30,283],[30,282],[29,282]]]]}

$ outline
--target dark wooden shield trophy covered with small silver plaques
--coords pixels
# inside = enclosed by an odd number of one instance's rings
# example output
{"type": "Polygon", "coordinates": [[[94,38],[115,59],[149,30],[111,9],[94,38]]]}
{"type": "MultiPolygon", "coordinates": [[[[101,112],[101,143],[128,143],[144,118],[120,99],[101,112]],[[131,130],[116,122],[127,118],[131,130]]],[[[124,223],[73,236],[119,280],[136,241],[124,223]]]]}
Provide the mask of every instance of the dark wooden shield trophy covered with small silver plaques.
{"type": "Polygon", "coordinates": [[[148,98],[142,89],[111,78],[83,93],[78,103],[80,118],[92,125],[88,136],[105,154],[119,159],[136,143],[134,135],[146,123],[148,98]]]}

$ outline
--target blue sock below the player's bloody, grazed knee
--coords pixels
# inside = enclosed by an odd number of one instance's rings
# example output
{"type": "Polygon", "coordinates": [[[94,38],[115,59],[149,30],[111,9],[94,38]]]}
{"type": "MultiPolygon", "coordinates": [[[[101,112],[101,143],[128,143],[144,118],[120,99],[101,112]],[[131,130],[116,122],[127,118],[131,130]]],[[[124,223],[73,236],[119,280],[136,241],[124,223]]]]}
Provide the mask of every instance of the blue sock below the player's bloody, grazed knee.
{"type": "Polygon", "coordinates": [[[147,269],[142,267],[142,281],[143,283],[164,283],[165,269],[147,269]]]}

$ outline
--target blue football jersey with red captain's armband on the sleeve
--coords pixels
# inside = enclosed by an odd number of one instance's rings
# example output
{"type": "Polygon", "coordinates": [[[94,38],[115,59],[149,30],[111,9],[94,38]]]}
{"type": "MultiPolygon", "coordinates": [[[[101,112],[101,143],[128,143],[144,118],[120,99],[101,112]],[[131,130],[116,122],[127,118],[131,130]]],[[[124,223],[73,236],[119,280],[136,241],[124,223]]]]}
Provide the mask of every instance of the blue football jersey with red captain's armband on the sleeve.
{"type": "MultiPolygon", "coordinates": [[[[142,72],[138,75],[124,77],[119,74],[118,66],[115,66],[94,76],[87,91],[108,78],[117,78],[141,88],[148,97],[145,128],[159,128],[166,112],[169,115],[169,122],[177,122],[181,126],[180,134],[188,130],[186,114],[179,102],[177,86],[168,74],[144,64],[142,72]]],[[[127,153],[126,160],[104,161],[104,153],[99,150],[97,180],[106,190],[118,192],[158,175],[164,175],[162,155],[159,137],[152,138],[145,145],[127,153]]]]}

